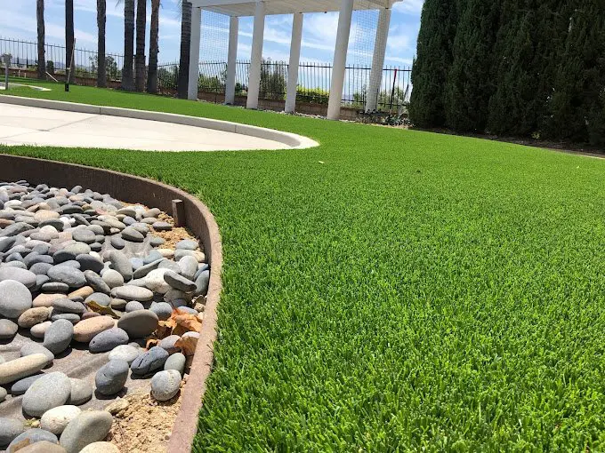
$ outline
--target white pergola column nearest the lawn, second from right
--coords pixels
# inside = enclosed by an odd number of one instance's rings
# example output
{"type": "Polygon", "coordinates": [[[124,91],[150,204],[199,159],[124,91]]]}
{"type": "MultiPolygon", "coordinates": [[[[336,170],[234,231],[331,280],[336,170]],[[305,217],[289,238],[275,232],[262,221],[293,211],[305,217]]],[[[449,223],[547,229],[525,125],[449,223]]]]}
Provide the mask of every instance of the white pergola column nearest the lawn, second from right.
{"type": "Polygon", "coordinates": [[[344,70],[347,62],[349,36],[351,35],[352,15],[353,0],[342,0],[341,9],[338,14],[338,30],[336,31],[330,98],[327,103],[327,119],[329,120],[340,118],[340,107],[343,100],[344,70]]]}

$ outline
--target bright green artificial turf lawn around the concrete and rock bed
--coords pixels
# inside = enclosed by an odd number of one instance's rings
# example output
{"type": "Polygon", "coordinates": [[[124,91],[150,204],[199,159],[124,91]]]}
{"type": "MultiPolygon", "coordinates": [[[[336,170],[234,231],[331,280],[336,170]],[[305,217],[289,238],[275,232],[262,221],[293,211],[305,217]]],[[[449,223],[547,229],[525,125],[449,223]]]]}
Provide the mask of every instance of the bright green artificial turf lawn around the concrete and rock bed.
{"type": "Polygon", "coordinates": [[[605,162],[70,94],[36,97],[231,119],[321,143],[198,154],[0,147],[161,179],[214,212],[224,289],[196,451],[605,448],[605,162]]]}

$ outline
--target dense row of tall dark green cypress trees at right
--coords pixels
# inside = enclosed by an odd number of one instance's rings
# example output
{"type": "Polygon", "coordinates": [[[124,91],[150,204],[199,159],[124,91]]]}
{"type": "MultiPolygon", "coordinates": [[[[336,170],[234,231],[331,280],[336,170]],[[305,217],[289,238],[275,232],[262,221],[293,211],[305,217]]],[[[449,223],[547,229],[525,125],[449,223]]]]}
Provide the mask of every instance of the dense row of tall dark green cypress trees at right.
{"type": "Polygon", "coordinates": [[[425,0],[419,127],[605,144],[602,0],[425,0]]]}

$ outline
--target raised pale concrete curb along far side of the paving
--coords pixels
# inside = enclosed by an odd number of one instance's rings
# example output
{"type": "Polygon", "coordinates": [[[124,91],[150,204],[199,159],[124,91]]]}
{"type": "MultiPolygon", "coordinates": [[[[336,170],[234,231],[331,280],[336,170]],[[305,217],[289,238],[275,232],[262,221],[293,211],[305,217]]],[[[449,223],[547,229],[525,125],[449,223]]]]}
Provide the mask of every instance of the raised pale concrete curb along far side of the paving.
{"type": "Polygon", "coordinates": [[[292,149],[319,147],[319,143],[317,141],[303,137],[302,135],[257,126],[249,126],[247,124],[231,123],[230,121],[213,120],[200,116],[177,115],[163,112],[153,112],[150,110],[135,110],[133,108],[93,106],[91,104],[79,104],[77,102],[24,98],[20,96],[10,96],[7,94],[0,95],[0,102],[4,102],[4,104],[14,104],[27,107],[53,108],[55,110],[64,110],[68,112],[92,115],[123,116],[126,118],[136,118],[140,120],[183,124],[186,126],[212,129],[214,131],[232,132],[244,136],[247,135],[256,137],[258,139],[273,140],[283,143],[292,149]]]}

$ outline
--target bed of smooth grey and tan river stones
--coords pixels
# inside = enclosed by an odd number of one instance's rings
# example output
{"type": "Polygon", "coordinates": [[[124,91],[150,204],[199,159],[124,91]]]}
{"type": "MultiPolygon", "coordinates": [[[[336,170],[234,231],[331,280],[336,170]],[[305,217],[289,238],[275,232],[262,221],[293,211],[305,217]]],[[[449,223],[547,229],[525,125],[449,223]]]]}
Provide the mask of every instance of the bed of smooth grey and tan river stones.
{"type": "Polygon", "coordinates": [[[157,208],[0,183],[0,450],[165,449],[209,278],[157,208]]]}

